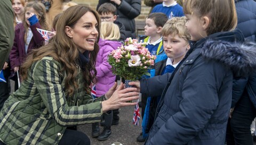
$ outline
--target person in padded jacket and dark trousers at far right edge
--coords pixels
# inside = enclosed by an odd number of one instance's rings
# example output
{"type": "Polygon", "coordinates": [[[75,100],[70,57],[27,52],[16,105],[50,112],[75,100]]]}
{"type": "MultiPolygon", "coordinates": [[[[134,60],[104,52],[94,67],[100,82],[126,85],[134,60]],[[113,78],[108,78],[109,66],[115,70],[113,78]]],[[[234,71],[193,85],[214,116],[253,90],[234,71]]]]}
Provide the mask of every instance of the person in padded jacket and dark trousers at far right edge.
{"type": "MultiPolygon", "coordinates": [[[[236,0],[237,29],[247,41],[256,41],[256,2],[236,0]]],[[[250,45],[250,42],[249,42],[250,45]]],[[[254,58],[252,58],[254,59],[254,58]]],[[[226,142],[233,144],[253,144],[251,123],[256,117],[256,72],[249,77],[234,78],[232,104],[227,125],[226,142]]]]}

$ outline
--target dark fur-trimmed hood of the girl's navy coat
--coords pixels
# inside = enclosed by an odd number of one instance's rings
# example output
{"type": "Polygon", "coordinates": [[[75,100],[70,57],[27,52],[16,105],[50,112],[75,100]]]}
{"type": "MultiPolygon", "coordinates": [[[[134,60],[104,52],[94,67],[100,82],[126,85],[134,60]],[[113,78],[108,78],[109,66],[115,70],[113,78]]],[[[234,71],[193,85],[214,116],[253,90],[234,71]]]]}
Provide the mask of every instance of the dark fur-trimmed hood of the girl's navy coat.
{"type": "Polygon", "coordinates": [[[233,70],[235,77],[247,76],[256,71],[255,42],[232,43],[222,40],[207,40],[202,52],[204,58],[221,62],[233,70]]]}

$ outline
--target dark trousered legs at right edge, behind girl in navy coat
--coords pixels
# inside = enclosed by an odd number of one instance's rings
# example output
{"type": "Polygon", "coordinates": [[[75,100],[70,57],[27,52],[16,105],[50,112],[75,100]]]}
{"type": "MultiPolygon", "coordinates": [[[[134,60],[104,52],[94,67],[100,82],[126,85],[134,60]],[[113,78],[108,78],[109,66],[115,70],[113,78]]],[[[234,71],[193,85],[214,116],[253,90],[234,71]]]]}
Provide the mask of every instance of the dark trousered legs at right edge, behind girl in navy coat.
{"type": "Polygon", "coordinates": [[[249,77],[234,80],[229,117],[227,145],[253,145],[250,127],[256,117],[256,72],[249,77]]]}

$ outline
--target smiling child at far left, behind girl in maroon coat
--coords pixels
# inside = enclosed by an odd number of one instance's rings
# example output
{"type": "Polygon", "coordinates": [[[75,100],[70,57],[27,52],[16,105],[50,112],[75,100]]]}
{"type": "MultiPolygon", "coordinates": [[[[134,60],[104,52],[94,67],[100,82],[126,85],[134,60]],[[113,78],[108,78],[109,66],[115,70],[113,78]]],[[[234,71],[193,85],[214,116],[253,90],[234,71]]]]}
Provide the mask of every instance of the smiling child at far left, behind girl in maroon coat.
{"type": "Polygon", "coordinates": [[[18,23],[22,23],[23,15],[24,15],[24,7],[25,7],[25,0],[13,0],[12,1],[12,9],[14,12],[14,27],[18,23]]]}

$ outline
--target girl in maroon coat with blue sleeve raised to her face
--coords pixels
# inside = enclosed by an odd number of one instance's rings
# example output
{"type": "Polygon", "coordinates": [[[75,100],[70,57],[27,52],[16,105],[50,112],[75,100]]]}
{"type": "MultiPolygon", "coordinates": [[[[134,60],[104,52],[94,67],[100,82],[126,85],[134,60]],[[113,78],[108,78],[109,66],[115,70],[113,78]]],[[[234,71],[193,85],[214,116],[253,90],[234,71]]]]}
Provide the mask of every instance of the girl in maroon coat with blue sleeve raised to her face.
{"type": "MultiPolygon", "coordinates": [[[[14,44],[10,53],[11,68],[15,73],[19,71],[20,65],[25,61],[31,49],[44,45],[45,40],[36,28],[49,29],[45,14],[45,7],[42,3],[27,3],[23,21],[15,27],[14,44]]],[[[15,84],[15,90],[18,89],[17,84],[18,82],[15,84]]]]}

